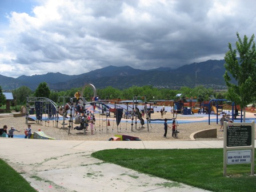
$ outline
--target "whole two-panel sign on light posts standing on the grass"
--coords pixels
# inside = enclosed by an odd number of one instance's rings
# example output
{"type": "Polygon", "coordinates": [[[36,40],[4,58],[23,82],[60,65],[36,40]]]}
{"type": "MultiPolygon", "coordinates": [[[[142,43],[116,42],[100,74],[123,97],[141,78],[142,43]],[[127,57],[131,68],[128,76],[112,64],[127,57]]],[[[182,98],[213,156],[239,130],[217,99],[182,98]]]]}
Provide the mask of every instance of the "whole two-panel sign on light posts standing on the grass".
{"type": "Polygon", "coordinates": [[[227,174],[227,165],[251,163],[251,175],[254,175],[254,130],[255,122],[224,122],[223,175],[227,174]]]}

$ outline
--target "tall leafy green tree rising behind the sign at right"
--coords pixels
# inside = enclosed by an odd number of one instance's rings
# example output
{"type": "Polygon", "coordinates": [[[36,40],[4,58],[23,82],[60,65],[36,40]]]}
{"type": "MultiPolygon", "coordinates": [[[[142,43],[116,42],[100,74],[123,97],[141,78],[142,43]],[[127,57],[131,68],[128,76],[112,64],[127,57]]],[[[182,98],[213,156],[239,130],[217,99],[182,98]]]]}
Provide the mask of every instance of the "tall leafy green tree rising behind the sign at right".
{"type": "Polygon", "coordinates": [[[242,41],[237,33],[237,38],[238,41],[235,43],[237,49],[233,50],[229,43],[229,51],[225,55],[226,63],[224,64],[226,72],[223,77],[228,88],[227,97],[236,105],[241,106],[245,122],[245,107],[253,102],[256,96],[256,51],[254,34],[250,39],[245,35],[242,41]],[[231,77],[236,83],[231,83],[231,77]]]}

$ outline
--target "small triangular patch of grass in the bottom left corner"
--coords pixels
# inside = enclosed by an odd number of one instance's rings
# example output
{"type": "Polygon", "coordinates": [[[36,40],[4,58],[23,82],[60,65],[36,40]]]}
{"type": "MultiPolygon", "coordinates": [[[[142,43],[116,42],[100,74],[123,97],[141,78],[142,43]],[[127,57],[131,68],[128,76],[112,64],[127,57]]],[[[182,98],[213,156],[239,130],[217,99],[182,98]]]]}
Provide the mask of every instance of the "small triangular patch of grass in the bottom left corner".
{"type": "Polygon", "coordinates": [[[0,159],[0,191],[35,192],[36,190],[7,163],[0,159]]]}

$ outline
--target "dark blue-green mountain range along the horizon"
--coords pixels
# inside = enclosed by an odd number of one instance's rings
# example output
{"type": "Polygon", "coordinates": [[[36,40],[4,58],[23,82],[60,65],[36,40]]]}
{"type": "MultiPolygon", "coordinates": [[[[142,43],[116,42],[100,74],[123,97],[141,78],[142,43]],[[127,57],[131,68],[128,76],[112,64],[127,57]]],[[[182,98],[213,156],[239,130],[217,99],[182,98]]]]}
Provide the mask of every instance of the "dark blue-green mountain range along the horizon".
{"type": "Polygon", "coordinates": [[[150,70],[134,69],[130,66],[107,66],[80,75],[47,73],[31,76],[22,75],[18,78],[0,75],[0,86],[3,90],[13,90],[21,86],[35,90],[39,83],[46,82],[51,90],[58,91],[82,87],[85,83],[91,83],[97,89],[103,89],[106,86],[125,89],[131,86],[145,85],[170,89],[203,85],[213,89],[226,89],[223,79],[224,63],[225,60],[208,60],[183,65],[177,69],[159,67],[150,70]]]}

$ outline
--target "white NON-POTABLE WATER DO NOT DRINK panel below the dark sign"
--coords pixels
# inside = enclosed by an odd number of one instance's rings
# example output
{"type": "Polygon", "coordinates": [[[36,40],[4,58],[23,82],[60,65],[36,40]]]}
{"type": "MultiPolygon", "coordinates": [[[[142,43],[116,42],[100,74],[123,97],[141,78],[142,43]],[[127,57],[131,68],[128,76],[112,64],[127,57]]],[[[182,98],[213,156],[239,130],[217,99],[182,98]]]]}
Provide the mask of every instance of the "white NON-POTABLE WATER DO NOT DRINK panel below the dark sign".
{"type": "Polygon", "coordinates": [[[227,151],[227,165],[251,163],[251,150],[227,151]]]}

